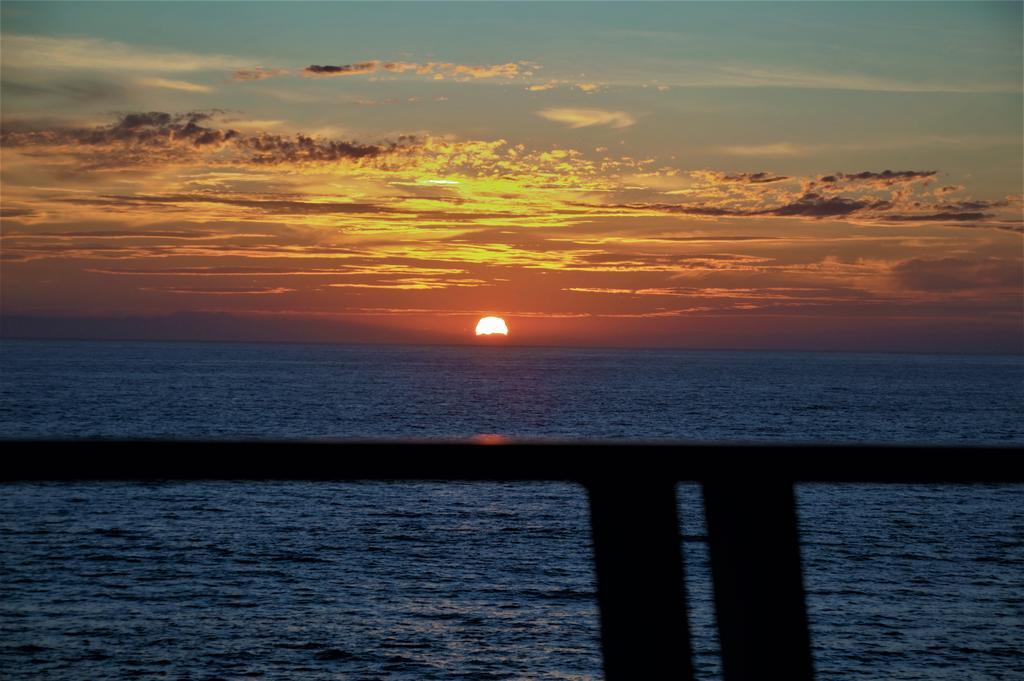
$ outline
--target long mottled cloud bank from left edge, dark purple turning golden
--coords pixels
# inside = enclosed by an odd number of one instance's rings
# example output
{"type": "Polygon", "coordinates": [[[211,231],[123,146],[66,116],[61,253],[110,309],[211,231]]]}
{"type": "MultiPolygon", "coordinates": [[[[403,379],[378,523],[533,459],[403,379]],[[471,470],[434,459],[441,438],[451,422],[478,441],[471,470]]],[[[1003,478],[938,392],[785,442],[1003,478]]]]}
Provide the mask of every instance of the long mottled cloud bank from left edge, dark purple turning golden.
{"type": "MultiPolygon", "coordinates": [[[[636,170],[637,159],[609,159],[600,163],[572,148],[529,150],[504,139],[474,140],[440,137],[397,136],[390,139],[350,140],[340,133],[319,135],[257,131],[231,124],[224,112],[169,114],[142,112],[124,114],[109,125],[74,126],[32,119],[5,122],[0,142],[6,155],[38,169],[48,169],[65,178],[97,170],[156,170],[175,164],[191,165],[204,174],[212,168],[271,167],[347,162],[370,174],[407,172],[396,179],[500,177],[509,198],[534,189],[569,191],[608,190],[617,180],[606,172],[636,170]],[[240,129],[241,128],[241,129],[240,129]],[[49,161],[49,164],[44,164],[49,161]]],[[[311,170],[311,169],[310,169],[311,170]]],[[[90,177],[93,182],[100,179],[90,177]]],[[[193,187],[195,188],[195,187],[193,187]]],[[[480,203],[493,203],[482,195],[480,203]]],[[[548,204],[557,216],[564,208],[548,204]]],[[[505,207],[514,202],[505,202],[505,207]]],[[[511,212],[524,212],[522,205],[511,212]]],[[[488,211],[489,212],[489,211],[488,211]]],[[[579,211],[575,211],[579,212],[579,211]]],[[[554,219],[554,217],[553,217],[554,219]]]]}

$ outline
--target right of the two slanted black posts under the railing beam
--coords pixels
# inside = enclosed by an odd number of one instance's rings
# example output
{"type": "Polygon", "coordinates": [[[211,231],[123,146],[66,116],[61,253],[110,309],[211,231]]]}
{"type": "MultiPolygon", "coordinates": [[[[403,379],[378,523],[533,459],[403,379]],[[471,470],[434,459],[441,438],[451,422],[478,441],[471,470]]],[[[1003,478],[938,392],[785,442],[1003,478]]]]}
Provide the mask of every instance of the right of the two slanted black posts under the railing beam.
{"type": "Polygon", "coordinates": [[[811,681],[793,484],[703,483],[725,681],[811,681]]]}

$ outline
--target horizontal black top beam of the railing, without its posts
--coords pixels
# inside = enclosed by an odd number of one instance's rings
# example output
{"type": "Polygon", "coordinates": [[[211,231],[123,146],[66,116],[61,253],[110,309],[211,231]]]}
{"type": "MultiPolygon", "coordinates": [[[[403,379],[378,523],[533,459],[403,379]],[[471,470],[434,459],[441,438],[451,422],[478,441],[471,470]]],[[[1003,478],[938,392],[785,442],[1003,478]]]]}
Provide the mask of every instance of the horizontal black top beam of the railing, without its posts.
{"type": "Polygon", "coordinates": [[[1020,482],[999,448],[465,442],[7,441],[0,480],[545,480],[1020,482]],[[586,459],[582,460],[581,457],[586,459]]]}

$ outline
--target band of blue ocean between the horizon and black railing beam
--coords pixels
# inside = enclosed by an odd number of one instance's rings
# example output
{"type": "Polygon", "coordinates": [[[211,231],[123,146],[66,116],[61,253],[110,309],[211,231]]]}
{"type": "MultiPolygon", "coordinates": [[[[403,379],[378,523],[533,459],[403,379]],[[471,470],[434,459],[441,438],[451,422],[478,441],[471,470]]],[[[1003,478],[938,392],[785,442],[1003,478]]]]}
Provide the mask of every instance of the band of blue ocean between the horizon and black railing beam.
{"type": "Polygon", "coordinates": [[[0,437],[1024,443],[1024,355],[0,342],[0,437]]]}

